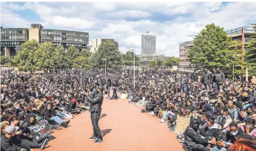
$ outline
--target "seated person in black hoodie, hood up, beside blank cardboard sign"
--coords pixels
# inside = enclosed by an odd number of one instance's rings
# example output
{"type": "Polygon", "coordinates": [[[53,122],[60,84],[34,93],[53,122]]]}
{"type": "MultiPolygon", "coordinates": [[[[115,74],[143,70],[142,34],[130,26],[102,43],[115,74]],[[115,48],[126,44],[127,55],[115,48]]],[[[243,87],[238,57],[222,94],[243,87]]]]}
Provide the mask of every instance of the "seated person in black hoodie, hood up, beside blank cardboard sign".
{"type": "Polygon", "coordinates": [[[189,126],[185,129],[185,146],[189,151],[208,151],[206,146],[210,144],[216,144],[215,138],[212,140],[203,139],[199,135],[199,121],[195,118],[190,119],[189,126]]]}

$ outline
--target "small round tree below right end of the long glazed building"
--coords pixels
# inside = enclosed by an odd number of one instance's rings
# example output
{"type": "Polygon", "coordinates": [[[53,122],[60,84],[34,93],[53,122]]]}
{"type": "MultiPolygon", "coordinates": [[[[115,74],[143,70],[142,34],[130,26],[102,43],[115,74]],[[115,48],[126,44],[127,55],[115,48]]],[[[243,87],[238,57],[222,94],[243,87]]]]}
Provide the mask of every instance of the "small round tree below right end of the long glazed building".
{"type": "Polygon", "coordinates": [[[68,68],[72,68],[73,61],[79,55],[80,55],[79,50],[77,48],[75,48],[73,46],[68,48],[67,53],[65,54],[65,60],[67,61],[68,68]]]}

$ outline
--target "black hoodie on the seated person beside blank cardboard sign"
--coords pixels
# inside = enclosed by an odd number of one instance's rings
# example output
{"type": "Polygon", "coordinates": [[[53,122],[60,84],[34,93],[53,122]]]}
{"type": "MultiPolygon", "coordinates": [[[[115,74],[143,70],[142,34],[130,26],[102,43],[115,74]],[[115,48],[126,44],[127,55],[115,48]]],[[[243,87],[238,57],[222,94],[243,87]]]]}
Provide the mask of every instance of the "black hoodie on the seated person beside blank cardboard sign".
{"type": "Polygon", "coordinates": [[[205,144],[208,143],[206,139],[202,139],[202,137],[199,135],[199,128],[194,129],[193,128],[193,122],[197,121],[197,119],[192,118],[190,119],[189,126],[185,129],[184,135],[185,135],[185,145],[187,148],[190,148],[193,145],[196,144],[205,144]]]}

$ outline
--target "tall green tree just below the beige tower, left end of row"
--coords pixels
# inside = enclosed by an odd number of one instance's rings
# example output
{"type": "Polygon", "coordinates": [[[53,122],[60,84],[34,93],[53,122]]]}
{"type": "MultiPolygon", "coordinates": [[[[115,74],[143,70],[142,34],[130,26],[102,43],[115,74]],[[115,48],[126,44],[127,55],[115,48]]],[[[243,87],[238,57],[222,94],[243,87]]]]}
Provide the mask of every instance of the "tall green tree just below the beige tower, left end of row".
{"type": "Polygon", "coordinates": [[[14,63],[19,70],[35,71],[34,52],[39,49],[40,45],[36,40],[31,40],[21,45],[22,51],[18,52],[12,63],[14,63]]]}

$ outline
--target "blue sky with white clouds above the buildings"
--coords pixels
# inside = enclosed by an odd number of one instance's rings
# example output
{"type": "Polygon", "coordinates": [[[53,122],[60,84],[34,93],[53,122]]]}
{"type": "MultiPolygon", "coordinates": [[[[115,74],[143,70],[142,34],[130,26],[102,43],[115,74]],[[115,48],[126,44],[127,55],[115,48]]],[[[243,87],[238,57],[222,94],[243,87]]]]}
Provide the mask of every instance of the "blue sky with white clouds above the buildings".
{"type": "Polygon", "coordinates": [[[225,30],[256,22],[255,2],[1,2],[1,27],[89,32],[114,38],[125,53],[141,53],[142,34],[156,35],[156,52],[178,57],[179,44],[192,41],[207,24],[225,30]]]}

